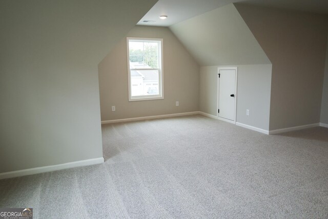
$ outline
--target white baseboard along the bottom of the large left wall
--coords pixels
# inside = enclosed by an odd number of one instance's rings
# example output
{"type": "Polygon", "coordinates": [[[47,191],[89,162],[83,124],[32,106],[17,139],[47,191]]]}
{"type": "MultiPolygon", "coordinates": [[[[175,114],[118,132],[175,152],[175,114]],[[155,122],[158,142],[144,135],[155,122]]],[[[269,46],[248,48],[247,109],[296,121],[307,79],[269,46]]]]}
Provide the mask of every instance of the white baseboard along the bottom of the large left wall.
{"type": "Polygon", "coordinates": [[[93,158],[93,159],[83,160],[83,161],[75,161],[75,162],[70,162],[70,163],[66,163],[66,164],[36,167],[36,168],[25,169],[25,170],[16,170],[16,171],[11,171],[11,172],[0,173],[0,180],[2,180],[3,178],[12,178],[12,177],[17,177],[17,176],[32,175],[32,174],[36,174],[36,173],[44,173],[44,172],[63,170],[63,169],[67,169],[67,168],[88,166],[88,165],[101,164],[101,163],[104,163],[104,157],[98,157],[98,158],[93,158]]]}

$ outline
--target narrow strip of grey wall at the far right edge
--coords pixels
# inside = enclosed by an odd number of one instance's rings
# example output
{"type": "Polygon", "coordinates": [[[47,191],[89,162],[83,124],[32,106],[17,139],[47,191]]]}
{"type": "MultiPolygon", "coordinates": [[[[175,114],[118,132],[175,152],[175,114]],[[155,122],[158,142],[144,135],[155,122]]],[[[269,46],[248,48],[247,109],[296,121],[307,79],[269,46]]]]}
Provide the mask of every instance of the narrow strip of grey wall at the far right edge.
{"type": "Polygon", "coordinates": [[[326,62],[324,68],[320,123],[328,124],[328,39],[326,49],[326,62]]]}

